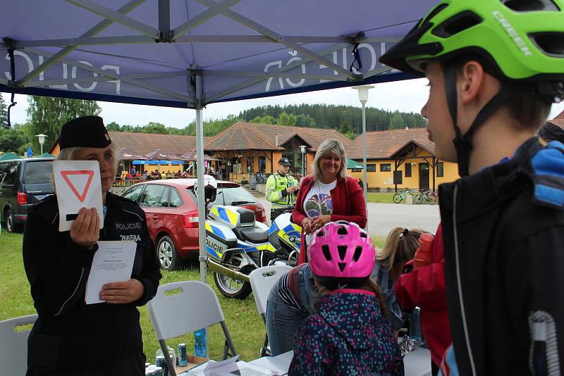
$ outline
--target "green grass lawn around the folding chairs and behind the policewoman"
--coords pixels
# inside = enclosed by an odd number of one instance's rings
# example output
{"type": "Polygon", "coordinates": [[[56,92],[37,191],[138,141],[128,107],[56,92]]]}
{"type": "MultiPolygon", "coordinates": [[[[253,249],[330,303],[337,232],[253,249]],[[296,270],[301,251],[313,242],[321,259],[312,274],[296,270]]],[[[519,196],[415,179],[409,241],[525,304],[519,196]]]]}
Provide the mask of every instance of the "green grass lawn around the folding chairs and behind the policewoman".
{"type": "MultiPolygon", "coordinates": [[[[0,320],[15,318],[22,315],[35,313],[33,301],[30,296],[30,285],[25,277],[22,261],[22,234],[9,234],[2,231],[0,235],[0,320]]],[[[375,239],[376,246],[381,247],[383,239],[375,239]]],[[[161,284],[176,282],[180,280],[200,280],[200,270],[193,265],[187,270],[176,272],[163,272],[161,284]]],[[[252,361],[259,357],[260,347],[266,334],[266,329],[262,318],[257,313],[257,306],[252,295],[241,301],[237,299],[227,299],[217,291],[211,275],[207,282],[213,287],[219,303],[225,315],[227,327],[231,332],[231,337],[235,342],[235,349],[240,353],[243,361],[252,361]]],[[[195,302],[197,303],[197,302],[195,302]]],[[[143,344],[147,361],[154,363],[154,354],[159,349],[159,342],[155,337],[147,307],[140,307],[141,328],[143,332],[143,344]]],[[[178,313],[182,315],[181,312],[178,313]]],[[[209,349],[212,358],[220,359],[223,354],[223,333],[219,325],[214,325],[210,330],[209,349]]],[[[192,334],[185,337],[178,337],[168,341],[171,347],[177,348],[179,343],[184,342],[188,346],[189,353],[194,347],[194,337],[192,334]]]]}

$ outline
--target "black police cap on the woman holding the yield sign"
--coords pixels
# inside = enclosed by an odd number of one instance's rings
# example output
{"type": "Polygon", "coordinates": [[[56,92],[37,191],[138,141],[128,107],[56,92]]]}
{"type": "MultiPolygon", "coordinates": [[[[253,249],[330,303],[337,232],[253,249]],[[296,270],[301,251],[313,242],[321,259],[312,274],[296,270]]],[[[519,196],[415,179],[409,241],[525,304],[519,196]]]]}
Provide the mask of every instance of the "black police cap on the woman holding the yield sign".
{"type": "Polygon", "coordinates": [[[59,146],[103,149],[111,144],[111,139],[104,127],[104,120],[99,116],[84,116],[69,120],[61,128],[59,146]]]}

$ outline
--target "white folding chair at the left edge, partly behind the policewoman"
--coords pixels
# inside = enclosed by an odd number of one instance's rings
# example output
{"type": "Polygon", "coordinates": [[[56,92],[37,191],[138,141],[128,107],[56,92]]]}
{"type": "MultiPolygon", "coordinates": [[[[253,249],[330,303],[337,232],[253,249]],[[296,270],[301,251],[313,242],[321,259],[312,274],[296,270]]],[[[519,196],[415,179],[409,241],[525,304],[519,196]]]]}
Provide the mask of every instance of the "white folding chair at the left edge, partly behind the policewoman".
{"type": "Polygon", "coordinates": [[[0,321],[0,364],[2,375],[25,375],[27,370],[27,337],[30,330],[18,330],[33,324],[37,315],[21,316],[0,321]]]}

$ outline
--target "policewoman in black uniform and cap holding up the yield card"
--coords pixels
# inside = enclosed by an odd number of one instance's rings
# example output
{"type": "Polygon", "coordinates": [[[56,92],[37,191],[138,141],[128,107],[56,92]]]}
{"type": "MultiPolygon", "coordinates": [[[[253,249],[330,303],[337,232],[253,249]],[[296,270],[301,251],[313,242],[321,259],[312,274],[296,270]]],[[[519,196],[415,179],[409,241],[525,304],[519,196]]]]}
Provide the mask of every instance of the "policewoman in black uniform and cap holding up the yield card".
{"type": "Polygon", "coordinates": [[[96,209],[81,208],[71,231],[59,232],[56,196],[33,206],[23,237],[23,262],[39,318],[27,341],[27,376],[145,375],[137,306],[159,287],[159,260],[145,213],[109,192],[118,149],[102,118],[63,125],[58,160],[98,161],[104,225],[96,209]],[[137,253],[130,280],[105,284],[100,299],[85,304],[85,288],[99,240],[133,240],[137,253]]]}

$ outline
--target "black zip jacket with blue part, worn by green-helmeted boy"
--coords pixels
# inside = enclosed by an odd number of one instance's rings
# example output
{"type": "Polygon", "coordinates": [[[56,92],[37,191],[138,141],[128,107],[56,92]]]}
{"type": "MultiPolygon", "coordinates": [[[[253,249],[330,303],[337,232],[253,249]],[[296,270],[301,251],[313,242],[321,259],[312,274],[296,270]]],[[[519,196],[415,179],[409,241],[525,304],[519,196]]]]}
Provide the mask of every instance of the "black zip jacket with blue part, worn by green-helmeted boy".
{"type": "Polygon", "coordinates": [[[460,375],[560,375],[563,175],[564,145],[534,138],[509,161],[439,187],[460,375]]]}

